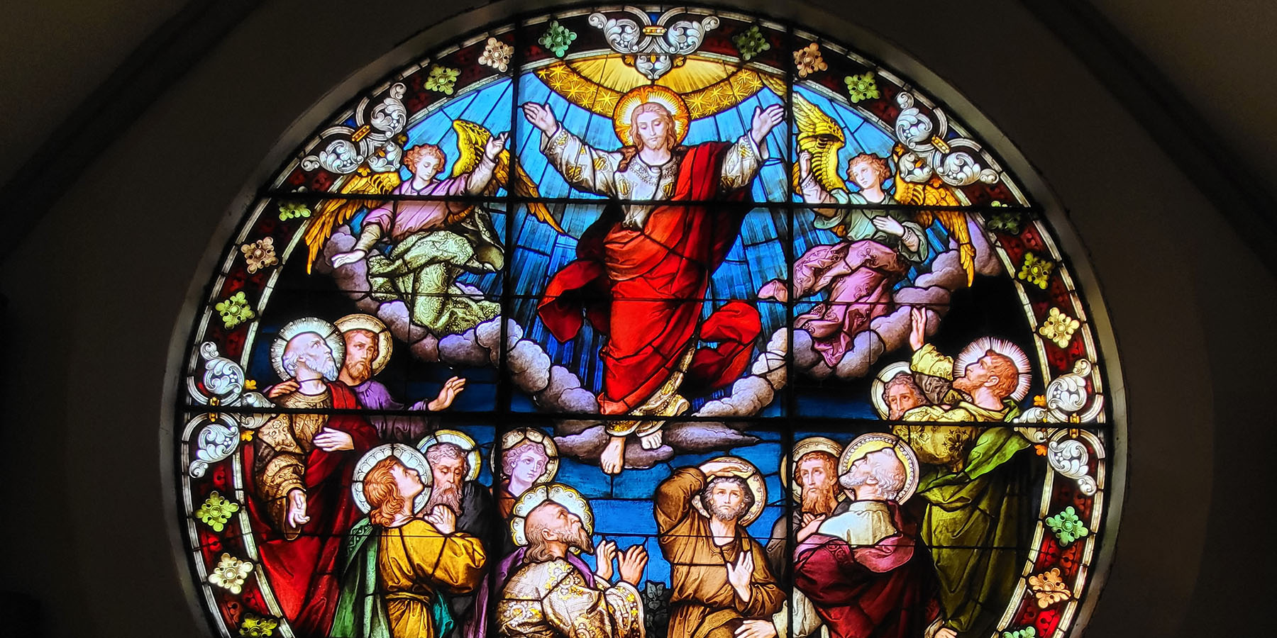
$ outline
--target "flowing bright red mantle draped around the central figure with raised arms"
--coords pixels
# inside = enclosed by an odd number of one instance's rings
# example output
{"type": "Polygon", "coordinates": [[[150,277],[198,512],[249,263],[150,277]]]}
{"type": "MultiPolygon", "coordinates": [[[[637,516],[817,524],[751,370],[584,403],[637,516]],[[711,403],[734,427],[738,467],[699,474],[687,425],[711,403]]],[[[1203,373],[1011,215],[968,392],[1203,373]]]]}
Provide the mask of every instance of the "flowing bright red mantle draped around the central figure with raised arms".
{"type": "Polygon", "coordinates": [[[577,242],[577,259],[559,271],[539,304],[554,338],[570,341],[589,319],[608,337],[599,411],[623,415],[640,406],[669,378],[697,341],[718,342],[696,351],[683,380],[684,394],[704,394],[741,376],[761,330],[759,311],[729,301],[701,322],[710,277],[736,244],[748,205],[743,189],[720,186],[732,144],[707,142],[679,148],[676,202],[653,209],[641,231],[621,225],[608,205],[577,242]]]}

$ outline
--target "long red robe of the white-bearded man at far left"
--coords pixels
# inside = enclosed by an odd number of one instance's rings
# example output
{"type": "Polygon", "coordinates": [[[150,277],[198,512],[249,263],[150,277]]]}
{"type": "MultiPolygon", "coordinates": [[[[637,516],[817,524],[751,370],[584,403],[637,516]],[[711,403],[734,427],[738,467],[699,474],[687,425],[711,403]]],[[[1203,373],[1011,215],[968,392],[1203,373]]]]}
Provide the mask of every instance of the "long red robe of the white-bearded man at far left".
{"type": "MultiPolygon", "coordinates": [[[[358,410],[355,393],[344,383],[329,383],[332,407],[358,410]]],[[[358,415],[332,415],[327,427],[350,434],[355,449],[324,452],[314,448],[306,457],[306,516],[310,522],[292,540],[267,516],[266,504],[257,498],[253,484],[253,445],[244,447],[245,494],[253,521],[261,569],[271,583],[283,618],[300,637],[328,635],[340,595],[338,559],[346,532],[364,514],[351,496],[355,463],[365,452],[381,443],[377,430],[358,415]]],[[[259,610],[269,612],[268,610],[259,610]]]]}

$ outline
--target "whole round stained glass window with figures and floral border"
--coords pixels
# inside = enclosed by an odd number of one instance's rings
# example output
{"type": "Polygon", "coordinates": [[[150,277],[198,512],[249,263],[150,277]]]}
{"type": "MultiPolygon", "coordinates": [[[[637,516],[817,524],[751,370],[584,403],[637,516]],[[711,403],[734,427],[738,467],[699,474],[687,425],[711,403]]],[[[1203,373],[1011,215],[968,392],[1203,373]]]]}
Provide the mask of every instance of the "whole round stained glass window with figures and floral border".
{"type": "Polygon", "coordinates": [[[192,328],[208,620],[1065,635],[1114,435],[1055,237],[805,27],[613,6],[432,51],[262,186],[192,328]]]}

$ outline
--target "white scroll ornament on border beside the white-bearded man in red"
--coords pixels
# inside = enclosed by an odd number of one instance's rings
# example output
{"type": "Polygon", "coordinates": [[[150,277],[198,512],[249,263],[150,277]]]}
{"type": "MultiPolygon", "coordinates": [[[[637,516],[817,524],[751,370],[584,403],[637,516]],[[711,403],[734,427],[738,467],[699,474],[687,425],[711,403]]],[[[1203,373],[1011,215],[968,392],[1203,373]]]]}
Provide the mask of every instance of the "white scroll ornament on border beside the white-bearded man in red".
{"type": "MultiPolygon", "coordinates": [[[[192,401],[200,406],[249,406],[271,407],[271,402],[261,392],[244,392],[244,369],[230,359],[222,357],[217,352],[217,346],[204,342],[199,346],[199,356],[204,360],[203,383],[194,375],[186,378],[186,392],[192,401]]],[[[186,424],[186,431],[199,427],[192,443],[195,445],[195,459],[190,462],[188,472],[199,478],[204,476],[208,466],[230,457],[239,447],[240,430],[255,430],[266,421],[267,415],[227,415],[223,412],[206,412],[195,416],[186,424]]]]}

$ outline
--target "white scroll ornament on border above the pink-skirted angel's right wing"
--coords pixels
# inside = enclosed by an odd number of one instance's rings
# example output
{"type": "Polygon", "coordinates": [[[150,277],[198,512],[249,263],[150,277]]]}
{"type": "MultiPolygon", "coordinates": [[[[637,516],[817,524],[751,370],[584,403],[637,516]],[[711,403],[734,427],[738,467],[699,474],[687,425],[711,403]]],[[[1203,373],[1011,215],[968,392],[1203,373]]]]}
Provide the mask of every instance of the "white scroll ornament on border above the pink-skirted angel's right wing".
{"type": "Polygon", "coordinates": [[[900,105],[900,115],[895,119],[895,138],[905,148],[899,170],[905,181],[922,184],[932,175],[950,186],[997,181],[997,171],[983,167],[973,154],[979,153],[977,142],[967,138],[945,139],[949,120],[944,111],[932,108],[930,116],[923,114],[913,106],[914,97],[909,92],[900,92],[895,101],[900,105]]]}

